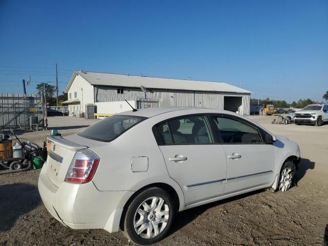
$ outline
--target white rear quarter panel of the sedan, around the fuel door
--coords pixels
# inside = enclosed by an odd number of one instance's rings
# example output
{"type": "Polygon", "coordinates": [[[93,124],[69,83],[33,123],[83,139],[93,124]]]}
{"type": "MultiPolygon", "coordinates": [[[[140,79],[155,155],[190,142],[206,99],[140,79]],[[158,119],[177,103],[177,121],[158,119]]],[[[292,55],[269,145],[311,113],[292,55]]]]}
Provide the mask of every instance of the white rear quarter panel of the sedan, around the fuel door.
{"type": "Polygon", "coordinates": [[[165,160],[152,132],[155,124],[156,121],[147,119],[115,140],[91,147],[100,156],[93,182],[99,191],[138,191],[152,183],[166,183],[177,192],[182,209],[185,204],[183,193],[169,177],[165,160]],[[132,172],[131,158],[141,156],[148,157],[148,171],[132,172]]]}

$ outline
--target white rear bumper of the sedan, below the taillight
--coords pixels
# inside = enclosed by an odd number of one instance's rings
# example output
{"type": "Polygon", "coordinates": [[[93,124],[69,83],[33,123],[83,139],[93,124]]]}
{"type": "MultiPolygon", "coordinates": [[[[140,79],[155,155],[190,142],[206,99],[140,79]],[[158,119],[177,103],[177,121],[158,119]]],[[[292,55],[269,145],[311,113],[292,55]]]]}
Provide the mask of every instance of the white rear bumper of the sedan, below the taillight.
{"type": "Polygon", "coordinates": [[[119,219],[132,191],[96,189],[93,182],[77,185],[62,182],[55,186],[47,175],[45,163],[38,179],[38,190],[49,213],[72,229],[119,230],[119,219]],[[115,219],[113,219],[115,218],[115,219]]]}

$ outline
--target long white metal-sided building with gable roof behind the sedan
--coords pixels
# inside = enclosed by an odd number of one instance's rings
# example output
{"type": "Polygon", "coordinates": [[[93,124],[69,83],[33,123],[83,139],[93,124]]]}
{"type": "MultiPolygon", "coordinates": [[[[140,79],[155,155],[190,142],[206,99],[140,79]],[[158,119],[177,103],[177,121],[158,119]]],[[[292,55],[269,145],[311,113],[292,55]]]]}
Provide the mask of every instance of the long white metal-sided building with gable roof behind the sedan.
{"type": "Polygon", "coordinates": [[[115,114],[148,107],[205,107],[250,114],[251,92],[226,83],[74,71],[66,88],[71,116],[82,117],[86,105],[115,114]],[[142,89],[146,89],[146,93],[142,89]]]}

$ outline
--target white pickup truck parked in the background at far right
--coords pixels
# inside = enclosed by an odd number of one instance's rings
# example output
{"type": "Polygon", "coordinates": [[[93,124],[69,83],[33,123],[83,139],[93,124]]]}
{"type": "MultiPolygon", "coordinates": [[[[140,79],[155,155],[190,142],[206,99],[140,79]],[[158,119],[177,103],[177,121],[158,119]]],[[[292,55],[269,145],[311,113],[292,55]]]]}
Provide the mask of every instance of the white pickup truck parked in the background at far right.
{"type": "Polygon", "coordinates": [[[320,127],[324,121],[328,121],[327,104],[311,104],[295,112],[294,122],[296,125],[308,124],[320,127]]]}

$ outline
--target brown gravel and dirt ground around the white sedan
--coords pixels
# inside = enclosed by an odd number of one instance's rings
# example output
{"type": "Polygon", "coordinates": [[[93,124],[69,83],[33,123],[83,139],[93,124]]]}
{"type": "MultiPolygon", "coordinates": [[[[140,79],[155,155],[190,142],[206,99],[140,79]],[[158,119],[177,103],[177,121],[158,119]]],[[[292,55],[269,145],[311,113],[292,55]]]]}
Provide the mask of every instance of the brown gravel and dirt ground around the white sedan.
{"type": "MultiPolygon", "coordinates": [[[[328,125],[272,125],[275,116],[250,116],[276,135],[299,143],[298,186],[257,191],[176,215],[158,245],[322,245],[328,223],[328,125]]],[[[95,120],[51,117],[49,126],[70,135],[95,120]]],[[[19,133],[42,144],[49,131],[19,133]]],[[[119,232],[72,230],[50,216],[37,191],[39,170],[0,176],[0,245],[131,245],[119,232]]],[[[92,208],[90,208],[92,209],[92,208]]]]}

